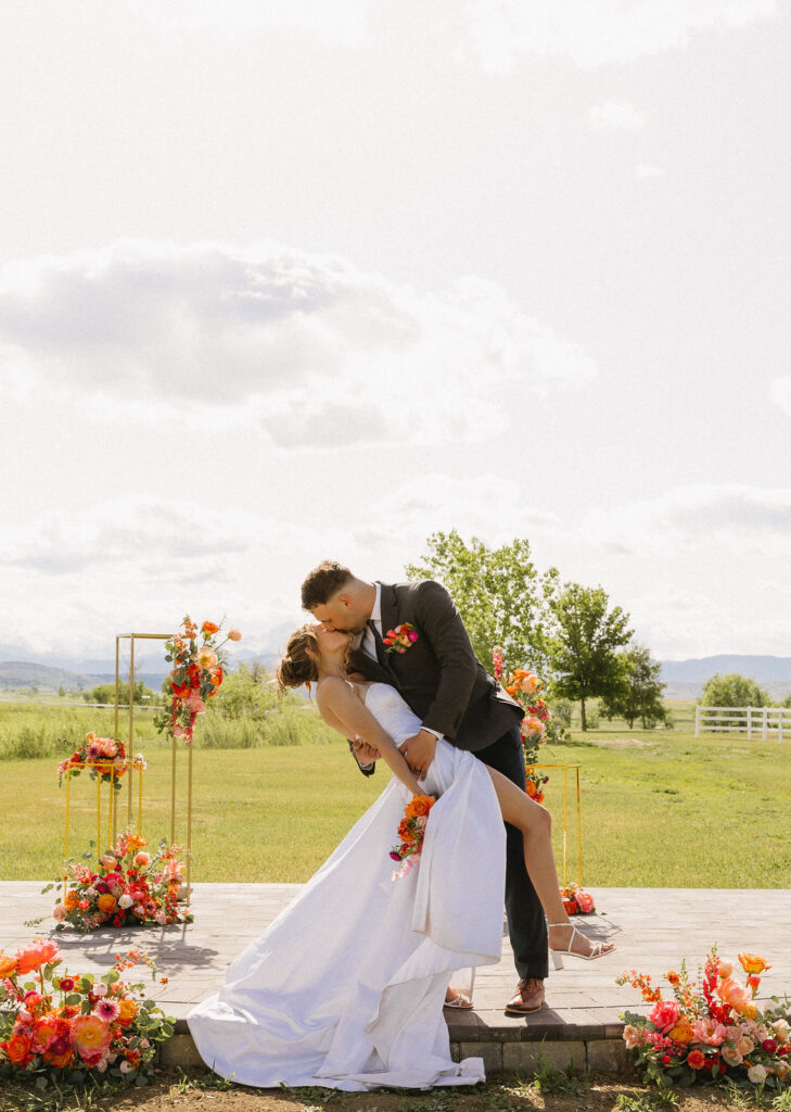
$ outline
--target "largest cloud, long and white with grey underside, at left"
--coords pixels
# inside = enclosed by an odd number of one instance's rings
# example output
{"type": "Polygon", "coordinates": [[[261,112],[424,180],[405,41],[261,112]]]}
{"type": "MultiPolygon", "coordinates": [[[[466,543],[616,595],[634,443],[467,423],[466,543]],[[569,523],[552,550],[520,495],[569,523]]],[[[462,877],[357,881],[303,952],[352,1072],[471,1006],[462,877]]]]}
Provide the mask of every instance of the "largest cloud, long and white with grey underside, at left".
{"type": "MultiPolygon", "coordinates": [[[[499,286],[417,291],[293,248],[124,241],[0,271],[0,344],[89,411],[211,405],[280,446],[482,437],[595,374],[499,286]]],[[[220,418],[222,419],[222,418],[220,418]]]]}

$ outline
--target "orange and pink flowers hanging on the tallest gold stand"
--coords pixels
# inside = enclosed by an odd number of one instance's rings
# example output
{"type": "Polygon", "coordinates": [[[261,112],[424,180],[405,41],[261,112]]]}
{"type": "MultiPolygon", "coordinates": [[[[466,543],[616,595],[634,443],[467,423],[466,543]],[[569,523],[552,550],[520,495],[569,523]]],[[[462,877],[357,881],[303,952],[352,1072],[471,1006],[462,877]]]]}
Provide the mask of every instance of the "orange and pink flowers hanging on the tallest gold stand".
{"type": "Polygon", "coordinates": [[[187,615],[179,633],[164,643],[166,661],[173,664],[170,682],[170,706],[154,717],[154,725],[171,737],[192,742],[196,718],[206,712],[206,701],[217,694],[222,683],[226,658],[222,648],[229,641],[241,641],[238,629],[229,629],[217,642],[221,626],[204,622],[200,629],[187,615]]]}

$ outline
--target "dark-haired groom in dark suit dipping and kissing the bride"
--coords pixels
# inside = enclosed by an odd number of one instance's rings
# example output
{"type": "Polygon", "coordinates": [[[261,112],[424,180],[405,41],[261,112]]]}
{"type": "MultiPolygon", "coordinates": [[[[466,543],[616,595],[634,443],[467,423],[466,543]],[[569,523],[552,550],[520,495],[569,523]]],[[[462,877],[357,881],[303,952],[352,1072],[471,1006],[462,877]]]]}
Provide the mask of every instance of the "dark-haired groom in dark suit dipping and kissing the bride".
{"type": "MultiPolygon", "coordinates": [[[[349,568],[324,560],[302,584],[302,606],[328,629],[350,633],[350,671],[392,684],[422,728],[400,746],[422,776],[437,739],[469,749],[524,791],[519,722],[524,712],[479,663],[453,602],[438,583],[366,583],[349,568]],[[409,624],[409,647],[388,652],[389,631],[409,624]],[[417,637],[414,636],[417,635],[417,637]]],[[[354,742],[360,770],[370,776],[376,751],[354,742]]],[[[548,972],[547,923],[524,867],[522,834],[505,825],[505,914],[519,984],[507,1015],[538,1012],[548,972]]]]}

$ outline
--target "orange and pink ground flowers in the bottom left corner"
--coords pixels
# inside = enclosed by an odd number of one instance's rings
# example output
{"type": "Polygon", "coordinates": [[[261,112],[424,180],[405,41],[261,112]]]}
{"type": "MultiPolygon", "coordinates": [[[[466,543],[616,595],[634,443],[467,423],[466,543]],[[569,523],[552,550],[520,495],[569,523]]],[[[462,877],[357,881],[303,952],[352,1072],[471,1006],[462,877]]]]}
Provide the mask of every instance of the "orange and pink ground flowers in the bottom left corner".
{"type": "MultiPolygon", "coordinates": [[[[173,1033],[170,1016],[147,999],[142,983],[121,974],[147,964],[130,950],[102,976],[61,970],[54,942],[37,939],[12,956],[0,950],[0,1078],[80,1084],[97,1074],[143,1084],[154,1071],[157,1043],[173,1033]]],[[[167,977],[161,977],[162,984],[167,977]]]]}

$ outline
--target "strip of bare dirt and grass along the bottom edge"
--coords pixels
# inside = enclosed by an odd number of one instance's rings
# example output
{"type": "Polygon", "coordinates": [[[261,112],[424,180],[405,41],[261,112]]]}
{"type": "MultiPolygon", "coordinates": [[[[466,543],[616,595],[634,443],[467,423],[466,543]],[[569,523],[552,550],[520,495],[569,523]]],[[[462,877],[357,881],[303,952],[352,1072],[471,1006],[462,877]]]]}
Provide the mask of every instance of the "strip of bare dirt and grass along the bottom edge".
{"type": "MultiPolygon", "coordinates": [[[[658,1093],[634,1082],[577,1080],[565,1074],[530,1084],[517,1080],[475,1089],[434,1089],[427,1093],[339,1093],[327,1089],[258,1090],[227,1085],[211,1075],[166,1079],[157,1085],[127,1090],[111,1098],[94,1095],[59,1103],[67,1112],[737,1112],[755,1106],[754,1091],[734,1099],[722,1089],[701,1088],[658,1093]]],[[[30,1090],[7,1089],[0,1112],[32,1110],[30,1090]],[[27,1099],[26,1099],[27,1096],[27,1099]]],[[[769,1094],[767,1094],[769,1098],[769,1094]]],[[[34,1099],[36,1100],[36,1099],[34,1099]]],[[[767,1105],[771,1103],[771,1098],[767,1105]]],[[[46,1108],[36,1103],[37,1109],[46,1108]]]]}

